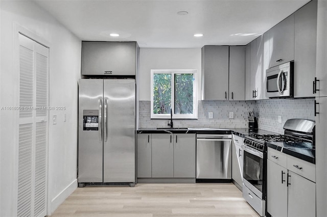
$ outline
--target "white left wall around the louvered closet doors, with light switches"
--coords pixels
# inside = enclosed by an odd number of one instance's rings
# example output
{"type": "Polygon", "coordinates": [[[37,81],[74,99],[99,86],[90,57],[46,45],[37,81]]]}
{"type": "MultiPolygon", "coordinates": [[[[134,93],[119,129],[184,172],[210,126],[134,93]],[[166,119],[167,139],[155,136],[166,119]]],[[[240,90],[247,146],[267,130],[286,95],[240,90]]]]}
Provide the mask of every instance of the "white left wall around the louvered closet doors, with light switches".
{"type": "MultiPolygon", "coordinates": [[[[77,79],[80,77],[81,41],[32,1],[0,1],[2,106],[15,106],[18,72],[15,66],[15,26],[29,30],[50,46],[50,105],[66,106],[49,124],[48,213],[77,187],[77,79]],[[67,121],[63,122],[63,115],[67,121]]],[[[13,111],[1,111],[0,216],[16,215],[17,141],[13,111]]]]}

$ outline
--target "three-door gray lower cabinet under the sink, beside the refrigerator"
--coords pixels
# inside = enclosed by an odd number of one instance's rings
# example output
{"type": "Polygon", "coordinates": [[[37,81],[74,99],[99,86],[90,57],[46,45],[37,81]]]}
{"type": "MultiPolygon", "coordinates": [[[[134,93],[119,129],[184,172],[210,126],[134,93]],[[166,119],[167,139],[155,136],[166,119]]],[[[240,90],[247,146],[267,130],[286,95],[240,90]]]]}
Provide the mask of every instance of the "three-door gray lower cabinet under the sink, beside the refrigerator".
{"type": "Polygon", "coordinates": [[[137,178],[195,178],[196,134],[137,134],[137,178]]]}

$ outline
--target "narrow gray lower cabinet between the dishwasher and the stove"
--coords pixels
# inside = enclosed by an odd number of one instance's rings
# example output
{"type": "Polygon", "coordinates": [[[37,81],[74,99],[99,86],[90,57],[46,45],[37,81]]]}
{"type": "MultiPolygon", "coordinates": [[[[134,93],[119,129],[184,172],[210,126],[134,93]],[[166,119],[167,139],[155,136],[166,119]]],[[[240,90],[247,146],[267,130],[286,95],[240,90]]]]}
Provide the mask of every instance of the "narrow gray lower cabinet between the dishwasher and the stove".
{"type": "Polygon", "coordinates": [[[239,188],[243,186],[243,141],[244,138],[238,135],[232,135],[232,155],[231,155],[231,178],[238,184],[239,188]]]}

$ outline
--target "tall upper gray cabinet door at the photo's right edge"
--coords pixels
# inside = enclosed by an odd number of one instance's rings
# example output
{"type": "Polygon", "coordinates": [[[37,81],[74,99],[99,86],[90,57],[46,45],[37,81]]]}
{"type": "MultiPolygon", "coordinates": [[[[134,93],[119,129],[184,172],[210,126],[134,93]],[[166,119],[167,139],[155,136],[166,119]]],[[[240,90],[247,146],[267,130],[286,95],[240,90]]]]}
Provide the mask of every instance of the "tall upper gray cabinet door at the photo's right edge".
{"type": "MultiPolygon", "coordinates": [[[[317,84],[316,96],[327,96],[327,2],[318,1],[317,12],[317,84]]],[[[327,209],[327,208],[326,208],[327,209]]],[[[326,213],[327,214],[327,213],[326,213]]]]}

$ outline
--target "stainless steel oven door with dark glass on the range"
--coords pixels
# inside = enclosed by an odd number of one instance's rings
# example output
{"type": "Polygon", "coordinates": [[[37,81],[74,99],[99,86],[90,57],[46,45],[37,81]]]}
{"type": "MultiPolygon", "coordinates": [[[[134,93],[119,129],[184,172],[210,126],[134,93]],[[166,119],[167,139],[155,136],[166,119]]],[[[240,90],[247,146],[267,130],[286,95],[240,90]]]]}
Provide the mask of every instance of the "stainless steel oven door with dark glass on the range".
{"type": "Polygon", "coordinates": [[[243,146],[243,184],[256,196],[263,199],[263,152],[243,146]]]}

